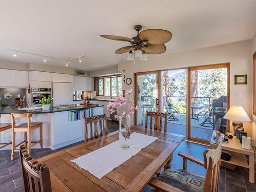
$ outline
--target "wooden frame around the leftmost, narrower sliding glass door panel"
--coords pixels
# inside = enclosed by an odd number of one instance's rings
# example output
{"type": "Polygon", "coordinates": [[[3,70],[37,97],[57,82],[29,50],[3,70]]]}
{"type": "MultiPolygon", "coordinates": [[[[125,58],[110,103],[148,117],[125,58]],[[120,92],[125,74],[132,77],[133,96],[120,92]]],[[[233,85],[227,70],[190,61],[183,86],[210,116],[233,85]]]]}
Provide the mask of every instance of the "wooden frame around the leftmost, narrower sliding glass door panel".
{"type": "MultiPolygon", "coordinates": [[[[157,97],[160,98],[160,80],[161,80],[161,71],[157,70],[157,71],[147,71],[147,72],[138,72],[138,73],[134,73],[134,101],[135,101],[135,106],[138,104],[137,101],[137,92],[138,92],[138,88],[137,88],[137,76],[138,75],[146,75],[146,74],[157,74],[157,97]]],[[[158,106],[158,111],[160,110],[160,104],[158,106]]],[[[137,112],[135,112],[134,114],[134,125],[137,125],[137,112]]]]}

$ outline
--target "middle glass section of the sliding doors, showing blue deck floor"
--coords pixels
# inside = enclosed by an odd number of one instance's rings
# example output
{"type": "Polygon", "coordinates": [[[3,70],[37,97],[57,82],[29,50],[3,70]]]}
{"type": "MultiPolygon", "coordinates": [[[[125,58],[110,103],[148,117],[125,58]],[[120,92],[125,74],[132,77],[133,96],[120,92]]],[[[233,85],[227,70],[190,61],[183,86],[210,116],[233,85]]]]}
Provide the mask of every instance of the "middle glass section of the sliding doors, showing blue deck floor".
{"type": "Polygon", "coordinates": [[[167,113],[167,131],[186,136],[187,70],[161,71],[161,111],[167,113]]]}

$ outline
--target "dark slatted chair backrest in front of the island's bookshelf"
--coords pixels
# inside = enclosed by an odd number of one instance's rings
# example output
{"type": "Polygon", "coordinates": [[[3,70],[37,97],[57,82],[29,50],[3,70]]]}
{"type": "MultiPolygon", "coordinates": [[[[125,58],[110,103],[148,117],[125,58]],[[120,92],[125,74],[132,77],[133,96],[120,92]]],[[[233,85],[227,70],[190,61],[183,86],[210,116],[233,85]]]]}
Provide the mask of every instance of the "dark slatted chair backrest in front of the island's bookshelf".
{"type": "Polygon", "coordinates": [[[93,139],[93,124],[94,124],[94,138],[102,136],[102,123],[104,135],[108,134],[108,125],[106,124],[106,114],[96,115],[93,117],[87,117],[83,120],[84,123],[84,140],[88,141],[88,124],[90,124],[90,136],[93,139]],[[98,122],[99,122],[99,133],[98,133],[98,122]]]}

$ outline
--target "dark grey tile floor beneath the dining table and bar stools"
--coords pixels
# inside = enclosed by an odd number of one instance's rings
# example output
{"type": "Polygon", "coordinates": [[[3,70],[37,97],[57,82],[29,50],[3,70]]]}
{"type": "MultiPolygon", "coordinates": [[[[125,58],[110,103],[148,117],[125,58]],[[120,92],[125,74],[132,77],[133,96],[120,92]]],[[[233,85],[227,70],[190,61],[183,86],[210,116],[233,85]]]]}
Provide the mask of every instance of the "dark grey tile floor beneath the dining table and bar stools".
{"type": "MultiPolygon", "coordinates": [[[[109,132],[116,131],[118,129],[118,123],[114,121],[108,121],[109,132]]],[[[83,141],[81,141],[83,142],[83,141]]],[[[78,143],[72,144],[76,145],[78,143]]],[[[66,146],[70,147],[72,145],[66,146]]],[[[183,141],[174,153],[174,159],[172,161],[172,168],[180,169],[182,168],[182,158],[178,156],[178,152],[182,151],[189,155],[193,155],[197,158],[203,159],[203,152],[208,148],[208,146],[200,145],[196,143],[183,141]]],[[[50,153],[61,150],[51,150],[50,148],[45,148],[40,151],[39,149],[32,149],[31,156],[33,158],[39,158],[46,156],[50,153]]],[[[11,151],[2,150],[0,151],[0,191],[25,191],[22,181],[22,172],[20,169],[19,156],[16,153],[15,159],[10,160],[11,151]]],[[[205,176],[205,169],[195,163],[189,162],[187,165],[189,172],[205,176]]],[[[248,171],[248,170],[247,170],[248,171]]],[[[146,186],[143,191],[148,191],[150,186],[146,186]]],[[[232,191],[232,192],[243,192],[243,191],[256,191],[256,184],[249,183],[248,173],[246,169],[242,167],[237,167],[236,170],[230,170],[221,167],[219,191],[232,191]]]]}

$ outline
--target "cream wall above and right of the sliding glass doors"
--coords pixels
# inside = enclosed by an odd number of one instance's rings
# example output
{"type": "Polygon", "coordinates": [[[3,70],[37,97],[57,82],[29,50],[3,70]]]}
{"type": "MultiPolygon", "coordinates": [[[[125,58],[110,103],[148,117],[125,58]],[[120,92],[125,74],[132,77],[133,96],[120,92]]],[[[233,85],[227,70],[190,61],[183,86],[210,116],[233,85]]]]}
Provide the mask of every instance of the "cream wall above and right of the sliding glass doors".
{"type": "MultiPolygon", "coordinates": [[[[172,43],[172,42],[169,42],[172,43]]],[[[192,66],[209,65],[216,63],[230,63],[230,104],[242,105],[250,118],[252,118],[252,60],[251,40],[244,40],[213,46],[203,49],[190,50],[181,53],[149,57],[147,61],[136,60],[119,63],[118,70],[125,70],[125,77],[134,81],[134,73],[154,70],[166,70],[192,66]],[[234,85],[234,75],[247,74],[247,85],[234,85]],[[242,93],[242,98],[237,98],[242,93]]],[[[134,89],[134,84],[125,84],[125,89],[134,89]]],[[[133,122],[133,120],[132,120],[133,122]]],[[[244,123],[249,136],[252,135],[251,122],[244,123]]],[[[230,131],[232,131],[230,127],[230,131]]]]}

